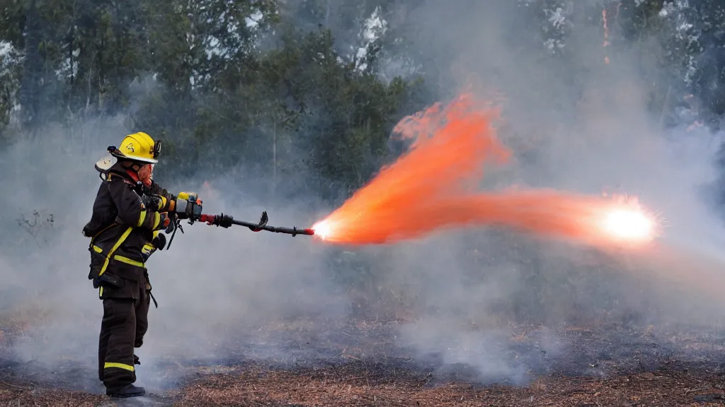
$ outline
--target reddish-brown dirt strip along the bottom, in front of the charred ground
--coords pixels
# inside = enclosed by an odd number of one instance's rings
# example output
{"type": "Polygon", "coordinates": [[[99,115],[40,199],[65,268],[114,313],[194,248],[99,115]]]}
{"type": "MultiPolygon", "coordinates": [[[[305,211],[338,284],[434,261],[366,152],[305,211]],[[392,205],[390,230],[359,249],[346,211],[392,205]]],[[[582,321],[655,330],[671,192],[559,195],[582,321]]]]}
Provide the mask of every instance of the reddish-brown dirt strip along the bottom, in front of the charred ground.
{"type": "Polygon", "coordinates": [[[542,377],[531,384],[429,385],[424,374],[354,361],[322,369],[230,369],[181,390],[130,400],[0,382],[0,406],[718,406],[721,374],[662,369],[606,379],[542,377]]]}

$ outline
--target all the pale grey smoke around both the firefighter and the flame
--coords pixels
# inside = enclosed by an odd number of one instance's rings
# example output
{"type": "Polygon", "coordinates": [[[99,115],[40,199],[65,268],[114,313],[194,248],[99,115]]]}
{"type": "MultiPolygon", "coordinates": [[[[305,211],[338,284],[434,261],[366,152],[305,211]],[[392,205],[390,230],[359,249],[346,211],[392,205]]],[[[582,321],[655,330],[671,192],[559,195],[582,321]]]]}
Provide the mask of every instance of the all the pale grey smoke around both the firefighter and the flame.
{"type": "MultiPolygon", "coordinates": [[[[155,253],[148,264],[159,308],[149,311],[149,332],[136,353],[139,383],[167,385],[178,379],[175,363],[189,359],[311,352],[314,340],[300,346],[290,335],[304,331],[314,338],[331,328],[275,327],[291,318],[344,320],[355,301],[402,315],[407,322],[397,345],[442,368],[473,366],[478,379],[523,379],[540,355],[566,356],[571,343],[557,331],[563,324],[613,319],[640,327],[697,327],[720,319],[717,298],[708,308],[700,299],[700,288],[715,280],[692,284],[687,274],[692,259],[706,259],[697,263],[704,270],[698,275],[714,279],[712,264],[722,260],[715,249],[725,234],[697,195],[714,179],[716,137],[674,130],[670,140],[658,115],[647,110],[650,78],[637,72],[639,56],[620,51],[605,64],[601,27],[579,17],[581,9],[564,7],[559,13],[565,22],[552,20],[554,28],[568,27],[566,58],[544,58],[550,48],[537,38],[527,14],[534,5],[529,7],[427,1],[406,10],[407,28],[417,33],[408,38],[409,47],[421,54],[423,72],[431,88],[442,90],[441,99],[472,83],[481,96],[495,89],[506,98],[500,135],[515,151],[515,162],[489,175],[486,186],[637,195],[663,214],[666,248],[684,253],[676,256],[680,263],[610,256],[505,230],[460,230],[390,247],[349,248],[351,262],[369,270],[363,276],[351,266],[331,266],[338,253],[305,236],[184,224],[170,250],[155,253]],[[346,290],[336,273],[368,279],[365,285],[376,295],[346,290]],[[511,343],[522,330],[534,338],[533,348],[521,351],[511,343]]],[[[612,28],[609,35],[616,35],[612,28]]],[[[0,310],[33,316],[13,357],[46,371],[85,369],[79,379],[88,389],[100,386],[95,369],[102,309],[86,279],[88,241],[80,230],[100,182],[94,162],[128,131],[122,120],[109,119],[70,130],[53,127],[0,156],[0,310]]],[[[270,225],[306,227],[334,210],[320,209],[314,196],[260,201],[255,193],[268,187],[236,177],[244,170],[241,165],[223,175],[157,181],[173,192],[201,193],[207,213],[253,221],[267,210],[270,225]],[[212,189],[204,188],[205,181],[212,189]]],[[[286,182],[302,185],[310,175],[299,172],[286,182]]]]}

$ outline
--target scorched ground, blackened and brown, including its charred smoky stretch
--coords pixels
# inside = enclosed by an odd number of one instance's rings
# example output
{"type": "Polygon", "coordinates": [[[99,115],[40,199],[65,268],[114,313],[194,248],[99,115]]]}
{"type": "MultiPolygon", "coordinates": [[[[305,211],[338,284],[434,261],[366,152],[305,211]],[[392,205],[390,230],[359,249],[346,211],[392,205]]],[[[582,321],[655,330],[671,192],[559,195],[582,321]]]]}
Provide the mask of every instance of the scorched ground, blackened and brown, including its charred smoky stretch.
{"type": "MultiPolygon", "coordinates": [[[[163,387],[120,401],[103,395],[95,372],[72,361],[49,371],[4,358],[0,407],[725,404],[725,335],[718,332],[693,335],[626,324],[518,327],[492,345],[500,347],[494,353],[502,360],[521,368],[514,369],[522,373],[518,377],[507,377],[444,364],[436,353],[415,353],[394,339],[398,326],[276,325],[228,343],[233,351],[224,359],[166,361],[163,387]]],[[[5,343],[9,336],[4,334],[5,343]]],[[[143,366],[139,377],[141,385],[149,379],[143,366]]]]}

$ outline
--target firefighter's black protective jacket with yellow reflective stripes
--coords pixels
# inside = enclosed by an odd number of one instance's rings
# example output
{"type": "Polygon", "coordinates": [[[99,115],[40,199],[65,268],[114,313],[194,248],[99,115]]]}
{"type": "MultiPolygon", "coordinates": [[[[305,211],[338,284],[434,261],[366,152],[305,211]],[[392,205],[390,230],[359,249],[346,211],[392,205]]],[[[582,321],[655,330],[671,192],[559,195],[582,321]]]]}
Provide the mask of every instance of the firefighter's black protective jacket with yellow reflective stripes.
{"type": "MultiPolygon", "coordinates": [[[[123,282],[119,279],[148,279],[145,262],[156,250],[154,238],[163,227],[162,212],[173,211],[175,199],[155,182],[145,188],[123,168],[109,169],[96,194],[91,221],[83,227],[83,235],[91,238],[88,279],[94,280],[95,288],[101,288],[101,298],[112,295],[104,296],[104,285],[120,289],[123,282]],[[149,207],[150,196],[160,200],[153,208],[149,207]]],[[[119,295],[128,298],[132,293],[113,294],[119,295]]]]}

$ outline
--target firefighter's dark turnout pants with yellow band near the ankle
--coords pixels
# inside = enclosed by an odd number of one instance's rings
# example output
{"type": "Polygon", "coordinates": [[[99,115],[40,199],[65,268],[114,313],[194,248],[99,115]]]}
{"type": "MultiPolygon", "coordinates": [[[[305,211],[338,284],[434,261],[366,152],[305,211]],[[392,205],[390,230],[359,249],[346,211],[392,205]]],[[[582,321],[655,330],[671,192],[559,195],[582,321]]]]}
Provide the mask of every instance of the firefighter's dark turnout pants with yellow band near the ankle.
{"type": "Polygon", "coordinates": [[[109,389],[136,382],[133,348],[144,344],[149,327],[146,278],[143,274],[138,278],[136,274],[133,279],[121,280],[122,287],[104,285],[100,294],[103,321],[98,347],[99,379],[109,389]]]}

